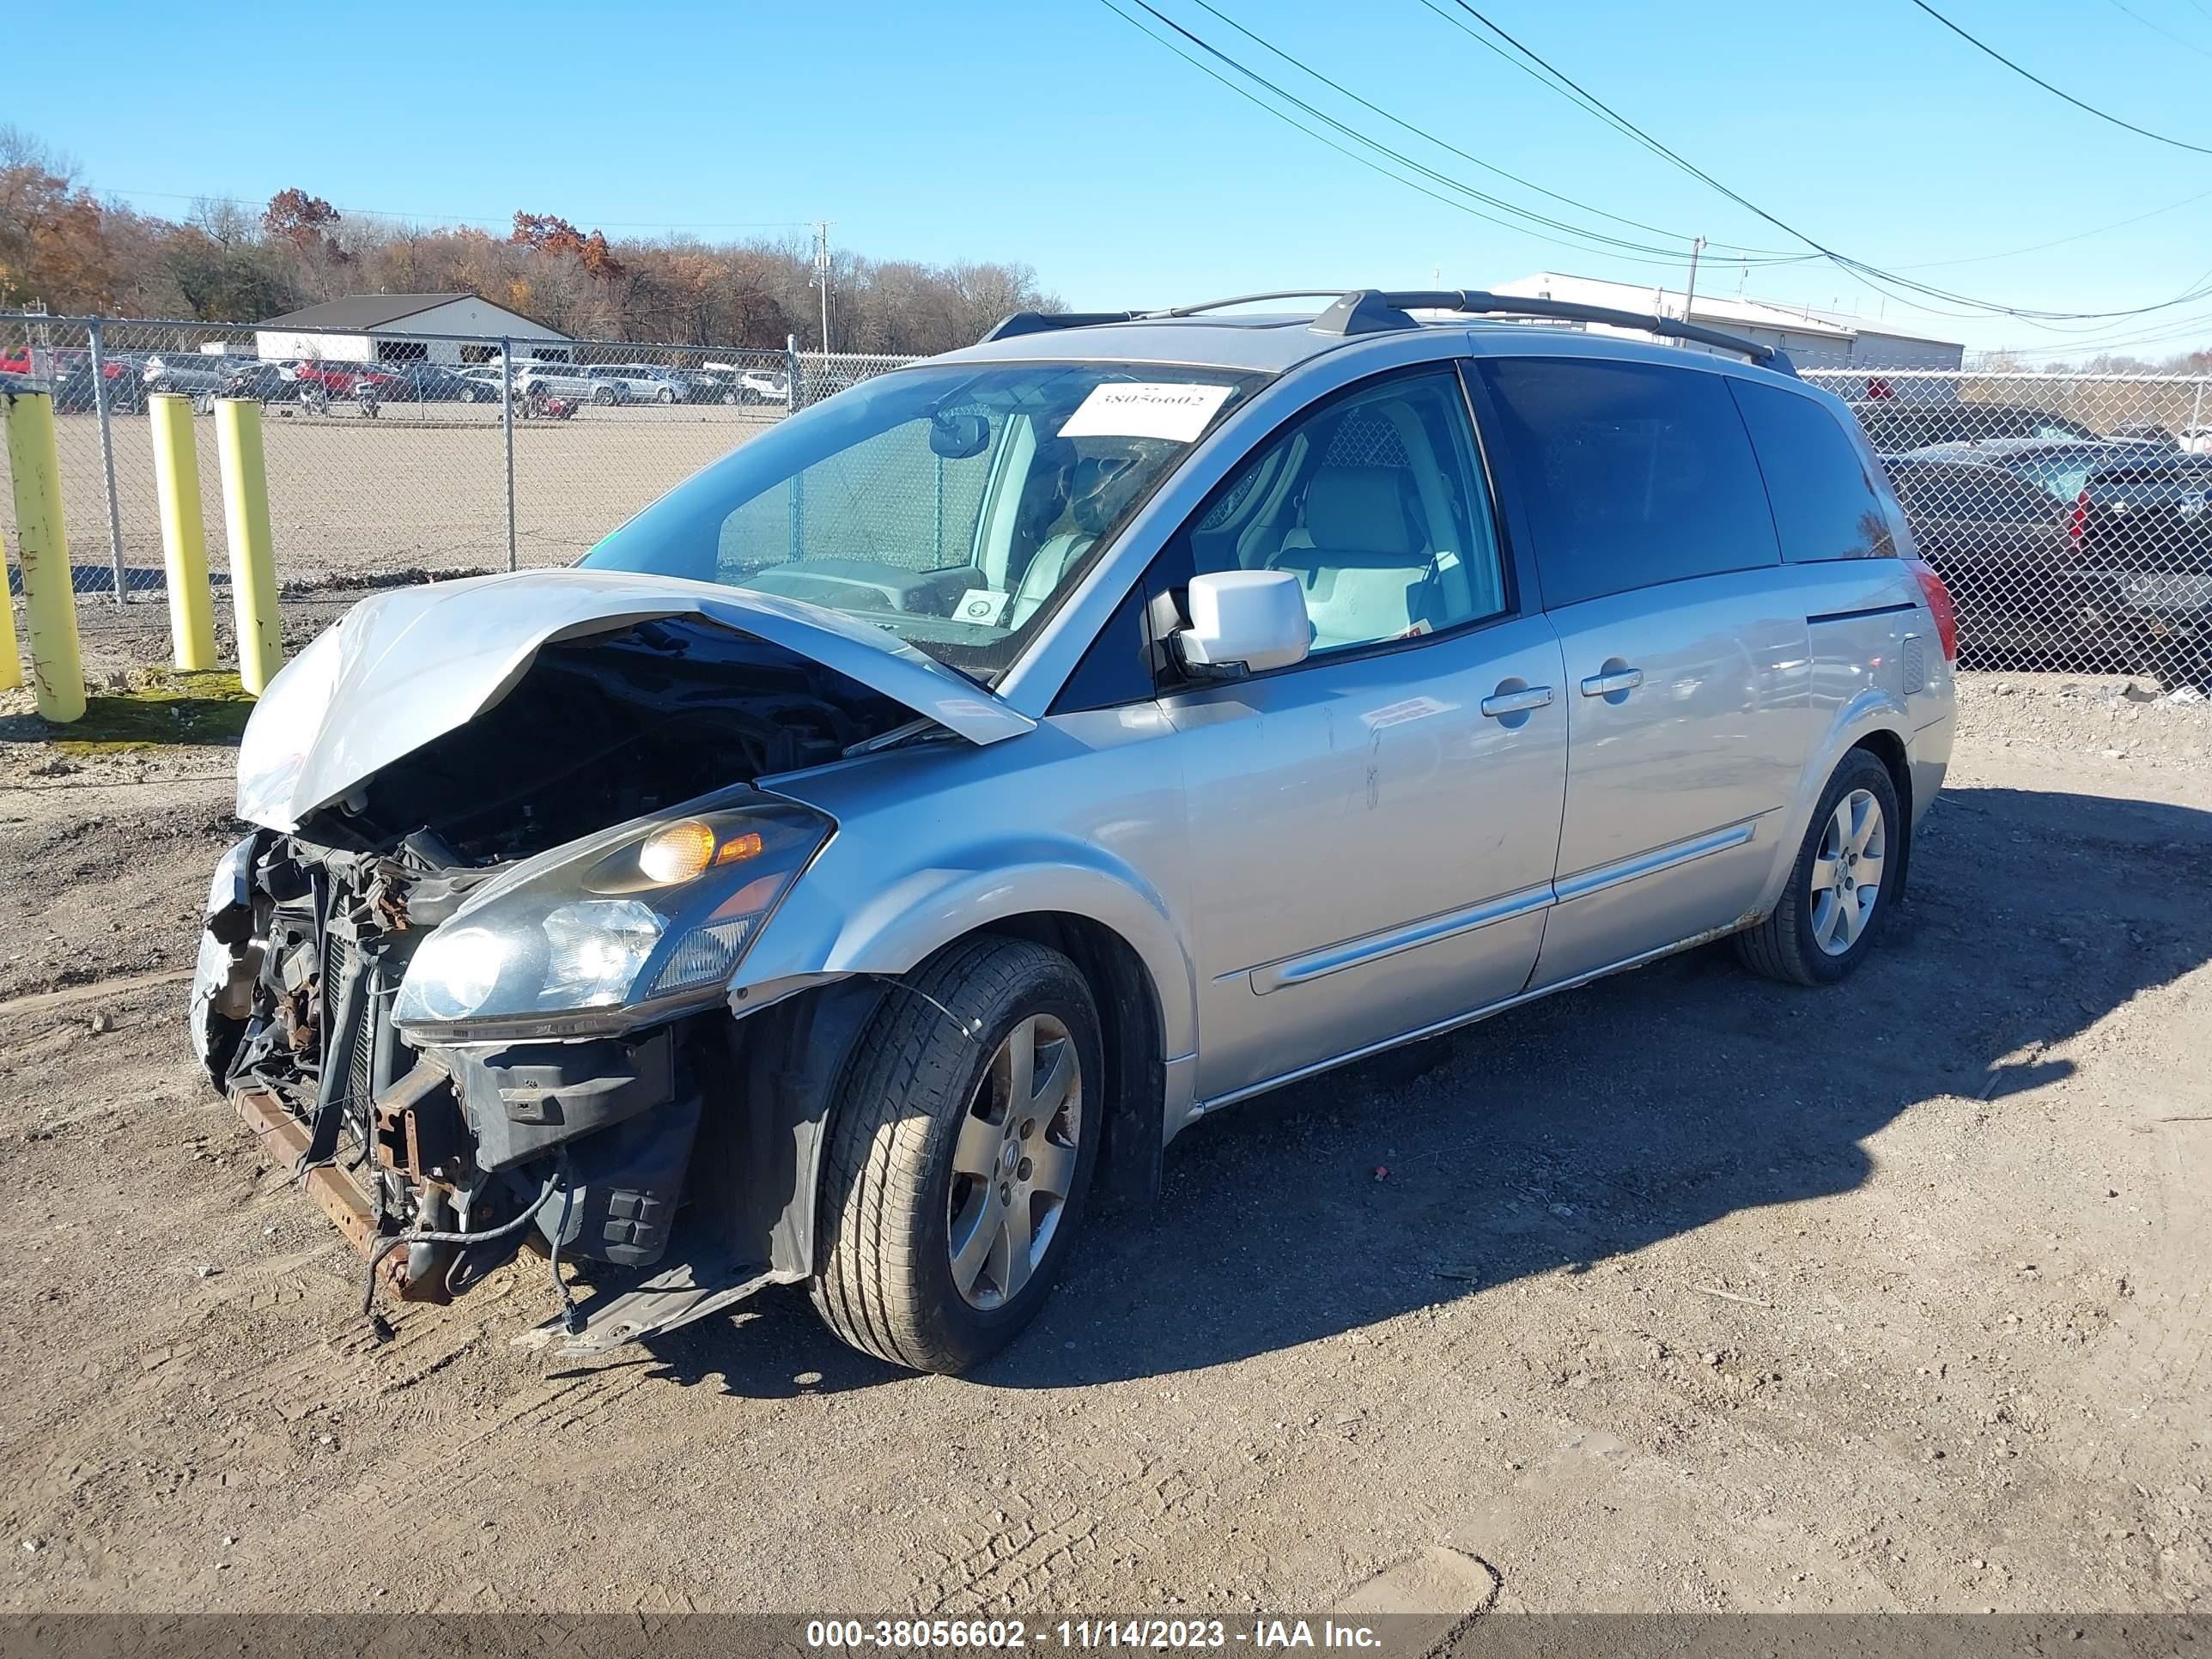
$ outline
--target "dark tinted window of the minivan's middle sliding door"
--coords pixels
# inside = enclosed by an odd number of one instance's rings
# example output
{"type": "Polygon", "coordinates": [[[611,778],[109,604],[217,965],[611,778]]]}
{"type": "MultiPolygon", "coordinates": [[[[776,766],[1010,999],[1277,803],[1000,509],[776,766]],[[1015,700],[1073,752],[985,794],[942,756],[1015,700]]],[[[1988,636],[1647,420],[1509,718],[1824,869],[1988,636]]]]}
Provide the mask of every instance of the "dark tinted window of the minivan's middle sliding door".
{"type": "Polygon", "coordinates": [[[1781,564],[1728,378],[1573,358],[1482,365],[1544,604],[1781,564]]]}

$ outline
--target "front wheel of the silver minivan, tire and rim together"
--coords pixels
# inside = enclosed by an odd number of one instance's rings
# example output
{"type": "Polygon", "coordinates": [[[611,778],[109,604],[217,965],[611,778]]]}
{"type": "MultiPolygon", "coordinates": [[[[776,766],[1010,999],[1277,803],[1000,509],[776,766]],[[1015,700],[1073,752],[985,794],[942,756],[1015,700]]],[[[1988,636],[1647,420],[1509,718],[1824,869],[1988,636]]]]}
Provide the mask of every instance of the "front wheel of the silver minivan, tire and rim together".
{"type": "Polygon", "coordinates": [[[863,1354],[967,1371],[1051,1294],[1106,1126],[1097,1006],[1044,945],[973,938],[902,982],[838,1088],[814,1307],[863,1354]]]}

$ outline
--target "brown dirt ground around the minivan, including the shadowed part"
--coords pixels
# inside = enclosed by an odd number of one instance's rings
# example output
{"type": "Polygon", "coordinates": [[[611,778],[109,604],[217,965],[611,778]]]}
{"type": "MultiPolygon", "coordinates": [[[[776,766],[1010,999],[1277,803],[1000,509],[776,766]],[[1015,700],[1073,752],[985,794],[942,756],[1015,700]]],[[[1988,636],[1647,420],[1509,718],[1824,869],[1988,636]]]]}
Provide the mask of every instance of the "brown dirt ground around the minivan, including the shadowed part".
{"type": "Polygon", "coordinates": [[[1674,958],[1212,1119],[971,1380],[774,1292],[378,1347],[184,1053],[226,750],[0,706],[0,1606],[1334,1606],[1444,1544],[1544,1610],[2212,1599],[2212,706],[1969,677],[1840,991],[1674,958]]]}

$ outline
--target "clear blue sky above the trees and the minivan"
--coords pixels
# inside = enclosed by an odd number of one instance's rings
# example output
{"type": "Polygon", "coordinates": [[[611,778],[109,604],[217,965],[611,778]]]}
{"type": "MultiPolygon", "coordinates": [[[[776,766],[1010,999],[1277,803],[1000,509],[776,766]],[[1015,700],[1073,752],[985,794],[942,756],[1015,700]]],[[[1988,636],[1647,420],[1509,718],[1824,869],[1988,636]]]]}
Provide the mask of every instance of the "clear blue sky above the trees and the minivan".
{"type": "MultiPolygon", "coordinates": [[[[1155,4],[1453,179],[1601,223],[1345,104],[1197,0],[1155,4]]],[[[1420,0],[1214,4],[1460,150],[1668,232],[1608,226],[1624,237],[1794,246],[1420,0]]],[[[2212,155],[2066,108],[1909,0],[1478,4],[1741,195],[1869,263],[1969,259],[1918,274],[2046,310],[2148,305],[2208,281],[2212,155]],[[2190,197],[2201,199],[2174,206],[2190,197]],[[2172,210],[1986,259],[2159,208],[2172,210]]],[[[2212,148],[2212,0],[1938,4],[2088,102],[2212,148]]],[[[9,33],[9,60],[44,69],[9,75],[0,117],[75,157],[93,188],[173,215],[195,195],[259,204],[301,186],[341,208],[502,228],[515,208],[611,234],[801,234],[796,221],[832,219],[834,241],[867,254],[1029,261],[1077,307],[1438,276],[1478,288],[1531,270],[1681,283],[1668,263],[1546,246],[1378,177],[1223,91],[1102,0],[624,11],[108,0],[22,7],[9,33]]],[[[1911,312],[1825,263],[1745,272],[1710,250],[1699,290],[1739,288],[1971,345],[2081,352],[2177,334],[2137,347],[2166,354],[2212,341],[2212,299],[2044,330],[1911,312]]]]}

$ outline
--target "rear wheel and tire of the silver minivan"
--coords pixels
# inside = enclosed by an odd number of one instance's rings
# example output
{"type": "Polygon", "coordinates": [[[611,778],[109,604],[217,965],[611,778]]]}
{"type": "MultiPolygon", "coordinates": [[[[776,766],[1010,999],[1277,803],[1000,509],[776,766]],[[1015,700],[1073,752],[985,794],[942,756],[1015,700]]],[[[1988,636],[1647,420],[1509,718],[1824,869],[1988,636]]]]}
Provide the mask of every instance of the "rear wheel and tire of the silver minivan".
{"type": "Polygon", "coordinates": [[[1770,980],[1836,984],[1896,907],[1902,854],[1898,785],[1874,754],[1851,750],[1820,792],[1774,914],[1736,933],[1736,956],[1770,980]]]}

